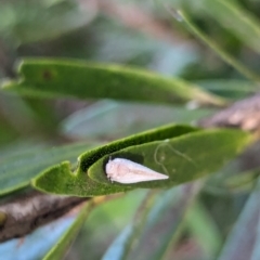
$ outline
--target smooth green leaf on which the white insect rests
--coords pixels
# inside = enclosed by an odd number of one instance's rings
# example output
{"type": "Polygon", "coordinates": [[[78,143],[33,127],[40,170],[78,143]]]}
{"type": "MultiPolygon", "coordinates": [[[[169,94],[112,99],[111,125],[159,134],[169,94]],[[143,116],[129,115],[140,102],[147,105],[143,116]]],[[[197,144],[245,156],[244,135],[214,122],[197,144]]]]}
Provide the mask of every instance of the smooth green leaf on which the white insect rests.
{"type": "Polygon", "coordinates": [[[89,168],[88,174],[96,182],[113,186],[162,187],[178,185],[218,170],[225,161],[233,158],[248,141],[248,134],[242,131],[207,130],[192,132],[180,138],[134,145],[110,153],[94,162],[89,168]],[[131,185],[112,184],[104,172],[104,166],[109,158],[133,160],[167,174],[170,179],[131,185]]]}

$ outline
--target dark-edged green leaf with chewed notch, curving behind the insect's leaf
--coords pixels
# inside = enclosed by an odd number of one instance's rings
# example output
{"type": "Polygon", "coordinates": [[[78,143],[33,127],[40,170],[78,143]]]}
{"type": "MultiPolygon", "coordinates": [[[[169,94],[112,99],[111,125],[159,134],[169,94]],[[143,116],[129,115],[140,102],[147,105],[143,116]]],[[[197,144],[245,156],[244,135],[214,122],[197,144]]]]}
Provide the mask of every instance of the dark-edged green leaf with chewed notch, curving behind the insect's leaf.
{"type": "Polygon", "coordinates": [[[114,186],[110,185],[110,183],[107,185],[93,181],[87,174],[89,167],[103,156],[130,145],[165,140],[196,130],[198,129],[190,126],[169,125],[115,141],[80,155],[78,157],[79,166],[75,172],[72,171],[68,161],[63,161],[60,165],[47,169],[42,174],[35,178],[32,185],[43,192],[76,196],[98,196],[131,190],[129,186],[114,186]]]}

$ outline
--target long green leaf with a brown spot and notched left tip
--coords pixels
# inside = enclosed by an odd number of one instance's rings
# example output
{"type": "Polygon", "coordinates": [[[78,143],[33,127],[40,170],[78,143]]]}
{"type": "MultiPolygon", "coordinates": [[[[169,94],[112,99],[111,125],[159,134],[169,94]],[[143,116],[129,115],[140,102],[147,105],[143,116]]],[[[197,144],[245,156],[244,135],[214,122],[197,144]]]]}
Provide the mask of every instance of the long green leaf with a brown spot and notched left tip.
{"type": "Polygon", "coordinates": [[[118,99],[162,103],[224,105],[220,98],[177,78],[120,65],[102,65],[69,60],[25,60],[20,79],[3,89],[41,98],[118,99]]]}

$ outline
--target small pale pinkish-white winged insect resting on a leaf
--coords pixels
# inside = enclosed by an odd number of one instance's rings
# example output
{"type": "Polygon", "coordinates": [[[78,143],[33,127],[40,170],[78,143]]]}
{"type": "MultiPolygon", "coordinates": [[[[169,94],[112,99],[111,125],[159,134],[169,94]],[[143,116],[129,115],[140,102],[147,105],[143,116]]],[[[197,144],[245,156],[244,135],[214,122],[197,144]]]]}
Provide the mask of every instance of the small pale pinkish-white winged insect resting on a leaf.
{"type": "Polygon", "coordinates": [[[169,178],[168,176],[123,158],[109,159],[105,170],[107,178],[112,182],[116,181],[125,184],[165,180],[169,178]]]}

